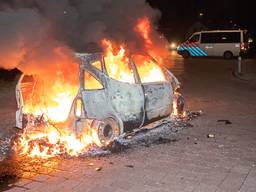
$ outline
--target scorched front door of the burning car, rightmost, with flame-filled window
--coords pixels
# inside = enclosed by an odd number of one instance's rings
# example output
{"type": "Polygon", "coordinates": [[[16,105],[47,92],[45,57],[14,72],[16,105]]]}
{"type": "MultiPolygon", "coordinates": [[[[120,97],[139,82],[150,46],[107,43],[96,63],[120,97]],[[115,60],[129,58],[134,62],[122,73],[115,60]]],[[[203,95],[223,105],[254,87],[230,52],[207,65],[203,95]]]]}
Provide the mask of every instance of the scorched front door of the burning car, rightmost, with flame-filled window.
{"type": "Polygon", "coordinates": [[[146,56],[135,55],[133,60],[145,95],[147,120],[169,115],[173,93],[165,72],[146,56]]]}

